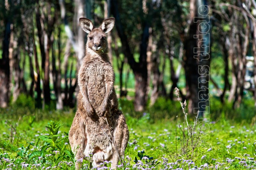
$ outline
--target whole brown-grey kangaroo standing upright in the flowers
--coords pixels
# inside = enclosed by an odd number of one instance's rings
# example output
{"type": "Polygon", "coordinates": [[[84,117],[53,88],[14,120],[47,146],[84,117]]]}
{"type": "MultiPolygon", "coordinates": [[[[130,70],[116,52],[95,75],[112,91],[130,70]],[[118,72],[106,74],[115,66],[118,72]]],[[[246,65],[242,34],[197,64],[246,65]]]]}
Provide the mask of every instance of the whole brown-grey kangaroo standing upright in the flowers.
{"type": "MultiPolygon", "coordinates": [[[[99,28],[95,28],[90,19],[79,21],[88,36],[78,73],[77,111],[68,139],[76,160],[92,153],[91,166],[99,167],[108,160],[115,169],[129,140],[124,115],[118,109],[115,73],[107,54],[106,33],[114,27],[115,18],[105,19],[99,28]]],[[[81,167],[76,161],[76,169],[81,167]]]]}

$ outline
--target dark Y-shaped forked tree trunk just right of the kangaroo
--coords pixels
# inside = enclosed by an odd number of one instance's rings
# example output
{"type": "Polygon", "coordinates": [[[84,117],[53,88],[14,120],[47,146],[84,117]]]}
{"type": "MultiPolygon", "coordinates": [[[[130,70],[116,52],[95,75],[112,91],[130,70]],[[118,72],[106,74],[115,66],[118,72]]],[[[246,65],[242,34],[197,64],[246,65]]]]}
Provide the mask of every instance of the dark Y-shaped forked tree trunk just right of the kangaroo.
{"type": "Polygon", "coordinates": [[[117,1],[112,0],[111,4],[111,11],[113,12],[114,17],[116,18],[117,33],[122,42],[122,51],[124,53],[124,56],[127,57],[128,63],[132,68],[135,76],[134,109],[135,111],[142,111],[146,107],[147,103],[147,43],[149,36],[149,25],[147,21],[144,23],[142,40],[140,44],[139,63],[136,63],[128,43],[127,35],[124,33],[124,29],[121,24],[121,18],[118,11],[117,1]]]}

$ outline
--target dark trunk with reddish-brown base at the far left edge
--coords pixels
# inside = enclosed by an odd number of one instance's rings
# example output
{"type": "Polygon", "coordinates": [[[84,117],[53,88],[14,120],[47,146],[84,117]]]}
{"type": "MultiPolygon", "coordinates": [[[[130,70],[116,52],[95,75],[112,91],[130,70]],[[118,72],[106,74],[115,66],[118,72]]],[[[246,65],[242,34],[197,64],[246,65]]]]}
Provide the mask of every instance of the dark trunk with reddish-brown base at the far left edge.
{"type": "Polygon", "coordinates": [[[9,65],[9,42],[11,33],[11,22],[5,23],[3,53],[0,59],[0,107],[7,107],[10,100],[9,82],[10,82],[10,65],[9,65]]]}

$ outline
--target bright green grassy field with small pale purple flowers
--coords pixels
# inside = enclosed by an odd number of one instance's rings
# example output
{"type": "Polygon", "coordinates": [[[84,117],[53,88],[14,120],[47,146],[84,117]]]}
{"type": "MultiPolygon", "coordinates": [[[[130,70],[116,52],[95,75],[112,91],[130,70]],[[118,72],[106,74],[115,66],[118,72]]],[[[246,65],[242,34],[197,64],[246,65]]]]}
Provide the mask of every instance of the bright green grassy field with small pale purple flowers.
{"type": "MultiPolygon", "coordinates": [[[[253,112],[250,122],[222,113],[210,122],[198,122],[191,135],[179,103],[160,105],[163,100],[145,113],[132,112],[132,102],[120,100],[130,140],[118,169],[256,169],[253,112]]],[[[17,102],[0,113],[0,169],[75,169],[67,139],[75,110],[42,111],[31,109],[29,100],[21,103],[24,106],[17,102]]],[[[193,126],[192,116],[188,123],[193,126]]],[[[83,169],[90,159],[78,160],[83,169]]],[[[110,163],[98,169],[110,169],[110,163]]]]}

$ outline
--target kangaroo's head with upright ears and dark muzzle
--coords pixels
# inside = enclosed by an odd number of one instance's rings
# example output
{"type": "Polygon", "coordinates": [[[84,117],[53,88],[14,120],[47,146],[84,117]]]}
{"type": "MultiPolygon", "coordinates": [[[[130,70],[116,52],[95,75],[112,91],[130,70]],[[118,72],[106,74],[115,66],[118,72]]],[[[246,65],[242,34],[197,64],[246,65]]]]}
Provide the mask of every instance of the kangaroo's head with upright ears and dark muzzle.
{"type": "Polygon", "coordinates": [[[92,21],[87,18],[80,18],[80,26],[88,33],[87,43],[88,48],[96,52],[102,52],[107,50],[108,42],[106,39],[106,33],[112,30],[115,25],[115,18],[105,19],[99,28],[95,28],[92,21]]]}

